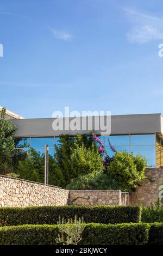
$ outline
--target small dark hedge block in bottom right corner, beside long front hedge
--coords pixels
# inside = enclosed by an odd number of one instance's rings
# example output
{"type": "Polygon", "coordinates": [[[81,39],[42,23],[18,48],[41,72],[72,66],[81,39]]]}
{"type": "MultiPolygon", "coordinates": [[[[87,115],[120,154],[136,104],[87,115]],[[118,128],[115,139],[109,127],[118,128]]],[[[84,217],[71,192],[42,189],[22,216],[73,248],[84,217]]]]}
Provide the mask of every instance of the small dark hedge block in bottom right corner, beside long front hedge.
{"type": "Polygon", "coordinates": [[[149,245],[163,245],[163,223],[153,223],[149,229],[149,245]]]}

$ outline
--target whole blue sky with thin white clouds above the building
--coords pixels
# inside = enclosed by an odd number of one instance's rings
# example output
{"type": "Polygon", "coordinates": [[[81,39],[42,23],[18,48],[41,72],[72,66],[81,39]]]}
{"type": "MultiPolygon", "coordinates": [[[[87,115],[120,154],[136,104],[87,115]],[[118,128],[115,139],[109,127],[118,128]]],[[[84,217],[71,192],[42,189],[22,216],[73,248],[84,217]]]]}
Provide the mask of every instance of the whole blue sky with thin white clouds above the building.
{"type": "Polygon", "coordinates": [[[160,113],[163,2],[0,0],[0,105],[26,118],[56,110],[160,113]]]}

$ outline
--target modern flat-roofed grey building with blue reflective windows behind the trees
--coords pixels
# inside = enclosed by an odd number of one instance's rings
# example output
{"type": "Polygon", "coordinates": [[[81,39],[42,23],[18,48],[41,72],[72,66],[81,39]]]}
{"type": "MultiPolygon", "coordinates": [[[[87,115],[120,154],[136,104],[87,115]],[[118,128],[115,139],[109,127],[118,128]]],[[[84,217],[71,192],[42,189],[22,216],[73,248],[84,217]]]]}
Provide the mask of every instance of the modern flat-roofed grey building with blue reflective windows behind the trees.
{"type": "MultiPolygon", "coordinates": [[[[55,118],[23,119],[14,113],[9,114],[9,117],[13,117],[11,122],[18,128],[15,137],[20,138],[20,142],[17,147],[22,147],[23,150],[30,151],[34,148],[43,153],[45,144],[48,144],[49,154],[53,155],[59,135],[73,136],[76,133],[89,135],[90,133],[89,129],[86,131],[54,131],[52,124],[55,118]]],[[[87,117],[89,118],[91,117],[87,117]]],[[[116,150],[133,152],[134,155],[140,153],[147,158],[150,167],[163,166],[162,114],[112,115],[111,135],[101,136],[100,129],[95,130],[95,133],[100,136],[110,157],[114,154],[110,147],[114,147],[116,150]]]]}

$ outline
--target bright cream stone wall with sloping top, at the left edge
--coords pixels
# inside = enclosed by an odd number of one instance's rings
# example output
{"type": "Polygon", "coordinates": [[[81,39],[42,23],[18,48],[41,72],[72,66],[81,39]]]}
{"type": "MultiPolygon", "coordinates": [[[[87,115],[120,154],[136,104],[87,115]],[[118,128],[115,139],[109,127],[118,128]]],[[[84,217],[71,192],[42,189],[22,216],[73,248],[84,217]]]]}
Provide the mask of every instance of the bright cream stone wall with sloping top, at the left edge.
{"type": "Polygon", "coordinates": [[[0,175],[0,206],[66,205],[68,190],[0,175]]]}

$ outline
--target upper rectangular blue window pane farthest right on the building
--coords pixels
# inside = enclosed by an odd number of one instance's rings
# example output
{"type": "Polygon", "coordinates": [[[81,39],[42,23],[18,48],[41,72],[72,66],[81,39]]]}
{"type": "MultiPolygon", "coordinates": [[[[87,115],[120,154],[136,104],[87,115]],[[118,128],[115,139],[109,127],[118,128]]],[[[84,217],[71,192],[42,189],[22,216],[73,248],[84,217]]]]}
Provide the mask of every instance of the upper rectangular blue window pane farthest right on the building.
{"type": "Polygon", "coordinates": [[[155,145],[155,135],[131,135],[130,143],[131,145],[155,145]]]}

